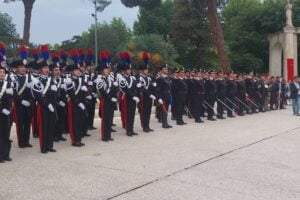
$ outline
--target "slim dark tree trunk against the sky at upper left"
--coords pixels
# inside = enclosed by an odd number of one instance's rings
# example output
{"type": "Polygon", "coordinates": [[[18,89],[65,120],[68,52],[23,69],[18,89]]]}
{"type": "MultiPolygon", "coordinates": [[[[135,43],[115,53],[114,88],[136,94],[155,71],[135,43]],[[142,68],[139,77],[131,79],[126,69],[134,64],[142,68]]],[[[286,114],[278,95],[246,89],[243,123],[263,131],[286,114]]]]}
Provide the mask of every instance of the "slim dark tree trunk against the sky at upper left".
{"type": "Polygon", "coordinates": [[[25,8],[24,29],[23,29],[23,42],[25,45],[29,44],[30,38],[30,23],[31,12],[35,0],[22,0],[25,8]]]}

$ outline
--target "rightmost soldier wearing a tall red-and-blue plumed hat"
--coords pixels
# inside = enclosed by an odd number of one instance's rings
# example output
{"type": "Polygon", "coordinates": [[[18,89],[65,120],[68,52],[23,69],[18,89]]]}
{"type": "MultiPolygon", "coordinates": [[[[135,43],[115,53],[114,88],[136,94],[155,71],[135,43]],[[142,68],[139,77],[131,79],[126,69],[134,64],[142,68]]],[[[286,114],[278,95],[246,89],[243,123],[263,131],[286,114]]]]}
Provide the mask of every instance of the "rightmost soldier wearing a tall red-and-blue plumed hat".
{"type": "Polygon", "coordinates": [[[150,116],[151,109],[153,105],[153,101],[156,100],[155,97],[155,89],[156,83],[153,82],[152,78],[149,76],[149,54],[144,52],[143,54],[144,64],[139,66],[139,78],[138,81],[140,84],[140,88],[138,90],[140,102],[138,104],[141,125],[144,132],[153,131],[150,128],[150,116]]]}

